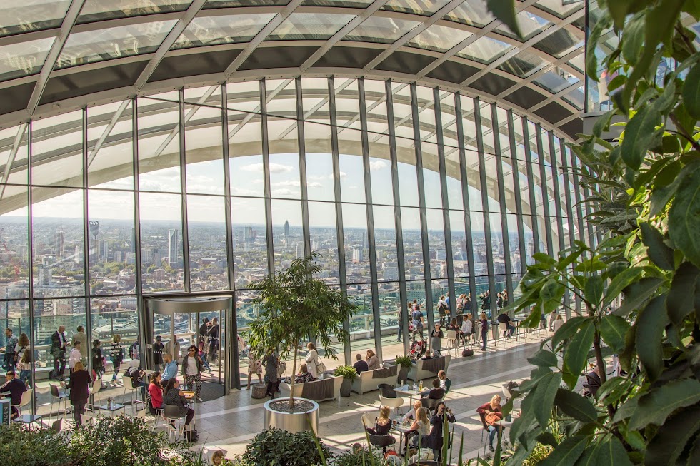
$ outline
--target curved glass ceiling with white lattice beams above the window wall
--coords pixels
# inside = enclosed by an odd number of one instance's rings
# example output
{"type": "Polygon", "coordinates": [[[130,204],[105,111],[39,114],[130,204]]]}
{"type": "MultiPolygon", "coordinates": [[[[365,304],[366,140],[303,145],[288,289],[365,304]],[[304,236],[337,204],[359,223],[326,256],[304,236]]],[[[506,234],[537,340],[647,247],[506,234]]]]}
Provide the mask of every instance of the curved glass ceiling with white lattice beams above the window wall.
{"type": "MultiPolygon", "coordinates": [[[[180,77],[172,64],[167,69],[161,65],[169,57],[191,53],[194,60],[201,57],[214,68],[203,69],[201,74],[219,72],[226,79],[235,78],[234,73],[239,70],[259,69],[264,76],[264,69],[296,67],[311,73],[314,65],[328,69],[340,63],[368,76],[377,70],[405,73],[416,81],[429,77],[466,91],[474,88],[490,93],[499,99],[526,87],[535,91],[536,100],[531,105],[550,99],[570,115],[582,110],[581,99],[565,99],[555,94],[571,83],[580,82],[583,86],[584,0],[516,1],[523,38],[496,21],[484,0],[4,3],[0,6],[0,87],[11,88],[14,86],[11,81],[16,79],[21,79],[18,85],[39,81],[40,98],[28,98],[28,103],[34,102],[35,107],[60,100],[47,96],[46,82],[40,82],[39,74],[47,67],[50,72],[41,76],[48,75],[49,92],[51,79],[56,76],[64,79],[74,76],[71,85],[82,88],[81,74],[89,70],[83,66],[107,61],[111,61],[109,66],[133,63],[139,64],[135,68],[139,72],[146,69],[146,76],[139,76],[133,66],[130,69],[139,77],[134,85],[141,88],[146,82],[180,77]],[[61,29],[67,34],[59,34],[61,29]],[[61,37],[66,39],[61,41],[61,37]],[[279,41],[295,43],[279,49],[279,41]],[[294,50],[296,46],[303,50],[294,50]],[[237,53],[221,54],[227,47],[231,51],[245,49],[240,63],[235,61],[237,53]],[[323,53],[316,56],[313,51],[319,47],[323,47],[323,53]],[[56,58],[47,62],[46,57],[56,58]],[[273,60],[277,62],[271,63],[273,60]],[[61,73],[56,75],[59,69],[61,73]],[[533,78],[534,74],[538,76],[533,78]],[[526,81],[521,83],[523,79],[526,81]]],[[[114,74],[120,72],[115,68],[114,74]]],[[[193,74],[187,73],[186,76],[193,74]]],[[[127,81],[134,81],[127,75],[124,75],[127,81]]],[[[119,85],[103,83],[95,90],[124,85],[122,79],[119,85]]],[[[61,84],[61,88],[66,87],[69,86],[61,84]]],[[[69,93],[73,95],[77,93],[69,93]]],[[[518,98],[506,100],[524,110],[528,108],[518,98]]],[[[27,111],[32,114],[35,108],[30,107],[27,111]]]]}

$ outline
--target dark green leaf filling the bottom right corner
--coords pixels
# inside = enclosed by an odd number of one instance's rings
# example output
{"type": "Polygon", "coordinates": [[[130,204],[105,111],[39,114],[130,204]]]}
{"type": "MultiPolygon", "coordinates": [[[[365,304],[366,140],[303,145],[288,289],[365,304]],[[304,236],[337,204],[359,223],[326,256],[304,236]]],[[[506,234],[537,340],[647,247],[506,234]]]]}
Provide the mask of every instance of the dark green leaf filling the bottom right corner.
{"type": "Polygon", "coordinates": [[[700,430],[700,406],[691,406],[676,412],[649,442],[644,462],[646,465],[674,465],[686,444],[700,430]]]}

